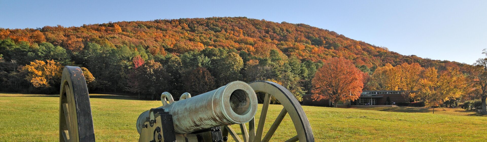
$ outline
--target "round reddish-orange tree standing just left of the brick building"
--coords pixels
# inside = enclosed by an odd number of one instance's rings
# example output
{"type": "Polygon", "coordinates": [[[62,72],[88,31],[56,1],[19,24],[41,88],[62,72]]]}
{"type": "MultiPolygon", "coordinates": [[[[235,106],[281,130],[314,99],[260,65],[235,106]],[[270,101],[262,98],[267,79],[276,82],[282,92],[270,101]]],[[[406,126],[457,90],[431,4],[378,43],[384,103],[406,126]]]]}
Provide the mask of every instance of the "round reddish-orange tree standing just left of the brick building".
{"type": "Polygon", "coordinates": [[[338,101],[356,100],[363,89],[362,75],[350,60],[328,59],[311,81],[313,99],[329,99],[335,107],[338,101]]]}

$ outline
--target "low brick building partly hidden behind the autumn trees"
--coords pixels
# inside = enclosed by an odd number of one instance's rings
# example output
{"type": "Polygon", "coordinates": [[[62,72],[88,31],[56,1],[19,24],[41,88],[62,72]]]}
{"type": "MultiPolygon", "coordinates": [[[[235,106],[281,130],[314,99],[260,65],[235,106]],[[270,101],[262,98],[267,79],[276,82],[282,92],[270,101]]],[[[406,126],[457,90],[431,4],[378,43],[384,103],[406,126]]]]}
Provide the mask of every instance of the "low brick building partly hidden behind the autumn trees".
{"type": "MultiPolygon", "coordinates": [[[[402,94],[405,91],[393,90],[364,90],[360,97],[355,101],[337,102],[337,107],[349,107],[354,105],[391,105],[394,103],[408,102],[402,94]],[[389,99],[387,99],[389,98],[389,99]],[[389,101],[388,101],[389,100],[389,101]]],[[[417,91],[411,91],[417,92],[417,91]]],[[[329,100],[315,101],[311,95],[303,96],[303,105],[305,106],[333,106],[329,100]]]]}

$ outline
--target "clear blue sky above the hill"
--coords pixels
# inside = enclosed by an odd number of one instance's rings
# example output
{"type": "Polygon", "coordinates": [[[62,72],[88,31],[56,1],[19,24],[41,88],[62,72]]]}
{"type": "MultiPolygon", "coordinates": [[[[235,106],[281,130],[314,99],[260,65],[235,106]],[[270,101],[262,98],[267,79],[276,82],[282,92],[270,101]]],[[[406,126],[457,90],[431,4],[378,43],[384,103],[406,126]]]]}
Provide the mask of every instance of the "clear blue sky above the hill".
{"type": "Polygon", "coordinates": [[[487,48],[487,0],[1,0],[1,28],[247,17],[304,23],[405,55],[471,64],[487,48]]]}

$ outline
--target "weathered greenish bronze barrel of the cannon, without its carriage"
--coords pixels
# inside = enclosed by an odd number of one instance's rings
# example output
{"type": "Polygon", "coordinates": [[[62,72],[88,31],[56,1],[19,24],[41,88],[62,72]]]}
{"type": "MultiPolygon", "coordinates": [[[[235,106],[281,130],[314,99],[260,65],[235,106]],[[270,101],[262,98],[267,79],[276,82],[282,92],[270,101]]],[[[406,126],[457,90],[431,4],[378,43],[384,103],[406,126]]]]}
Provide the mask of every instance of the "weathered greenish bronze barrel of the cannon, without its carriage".
{"type": "MultiPolygon", "coordinates": [[[[257,96],[245,82],[234,81],[218,89],[160,106],[172,115],[174,130],[187,134],[211,127],[244,124],[257,112],[257,96]]],[[[149,111],[137,119],[137,130],[150,117],[149,111]]]]}

